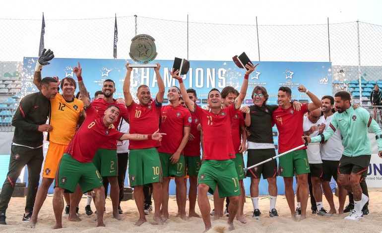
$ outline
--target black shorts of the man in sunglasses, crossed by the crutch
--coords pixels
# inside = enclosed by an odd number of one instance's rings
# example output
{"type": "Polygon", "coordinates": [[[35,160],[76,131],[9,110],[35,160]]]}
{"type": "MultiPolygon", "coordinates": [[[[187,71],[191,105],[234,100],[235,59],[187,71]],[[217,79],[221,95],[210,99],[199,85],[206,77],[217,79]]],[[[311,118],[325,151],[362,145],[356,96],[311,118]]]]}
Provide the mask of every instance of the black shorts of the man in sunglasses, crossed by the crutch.
{"type": "MultiPolygon", "coordinates": [[[[258,164],[262,161],[270,159],[276,156],[276,152],[274,149],[249,149],[248,150],[248,161],[247,167],[251,167],[255,164],[258,164]]],[[[255,168],[252,168],[247,171],[246,176],[260,178],[262,174],[262,178],[270,178],[277,176],[277,161],[271,160],[266,162],[265,164],[261,164],[255,168]]]]}

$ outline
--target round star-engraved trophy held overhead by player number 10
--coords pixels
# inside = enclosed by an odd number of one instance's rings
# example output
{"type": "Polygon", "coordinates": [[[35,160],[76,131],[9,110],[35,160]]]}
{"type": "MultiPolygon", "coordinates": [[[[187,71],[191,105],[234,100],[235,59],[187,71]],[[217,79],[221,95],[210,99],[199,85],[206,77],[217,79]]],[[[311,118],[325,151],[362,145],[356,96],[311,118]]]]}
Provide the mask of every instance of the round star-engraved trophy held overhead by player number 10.
{"type": "Polygon", "coordinates": [[[148,64],[158,55],[155,39],[146,34],[139,34],[131,39],[130,58],[139,64],[129,64],[128,67],[157,67],[157,64],[148,64]]]}

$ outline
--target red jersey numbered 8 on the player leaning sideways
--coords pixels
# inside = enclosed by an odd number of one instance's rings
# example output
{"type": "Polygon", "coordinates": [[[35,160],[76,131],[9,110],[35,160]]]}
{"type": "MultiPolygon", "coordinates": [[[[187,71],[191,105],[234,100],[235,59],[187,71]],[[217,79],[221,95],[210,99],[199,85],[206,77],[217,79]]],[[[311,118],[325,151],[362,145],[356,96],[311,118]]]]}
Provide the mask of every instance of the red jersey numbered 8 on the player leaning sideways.
{"type": "Polygon", "coordinates": [[[65,153],[81,163],[92,162],[99,145],[105,140],[119,140],[122,135],[114,128],[105,126],[92,104],[85,110],[86,118],[67,146],[65,153]]]}

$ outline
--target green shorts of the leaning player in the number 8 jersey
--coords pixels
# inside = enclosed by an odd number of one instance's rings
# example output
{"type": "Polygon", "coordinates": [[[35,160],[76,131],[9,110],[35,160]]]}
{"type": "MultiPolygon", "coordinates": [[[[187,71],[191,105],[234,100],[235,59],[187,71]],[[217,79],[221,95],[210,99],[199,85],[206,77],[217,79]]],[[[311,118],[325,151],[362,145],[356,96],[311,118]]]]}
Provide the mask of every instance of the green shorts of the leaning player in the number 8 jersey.
{"type": "Polygon", "coordinates": [[[83,193],[103,186],[101,174],[93,163],[81,163],[64,153],[57,170],[55,187],[73,193],[79,184],[83,193]]]}

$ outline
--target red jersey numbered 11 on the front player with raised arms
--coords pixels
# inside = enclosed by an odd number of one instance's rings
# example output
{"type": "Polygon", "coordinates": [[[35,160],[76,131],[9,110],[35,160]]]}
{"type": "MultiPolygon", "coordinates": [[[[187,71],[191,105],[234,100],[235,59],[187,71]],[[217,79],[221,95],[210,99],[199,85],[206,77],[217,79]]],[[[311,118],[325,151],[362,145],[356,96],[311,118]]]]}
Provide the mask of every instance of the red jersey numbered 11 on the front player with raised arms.
{"type": "Polygon", "coordinates": [[[228,160],[235,158],[231,137],[232,118],[237,113],[234,105],[218,114],[208,112],[195,105],[195,115],[203,126],[205,160],[228,160]]]}

